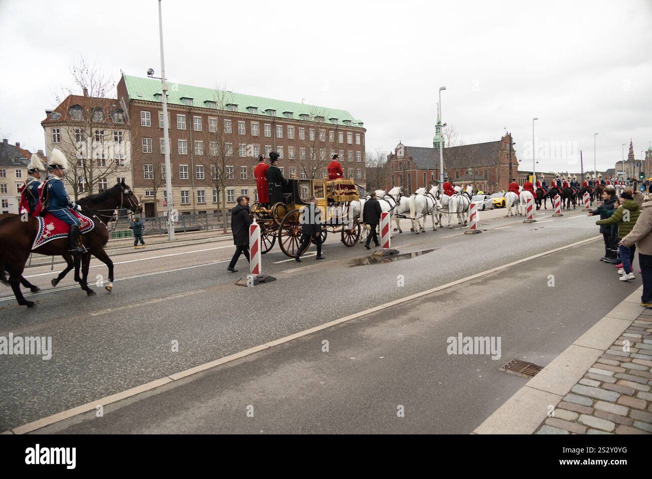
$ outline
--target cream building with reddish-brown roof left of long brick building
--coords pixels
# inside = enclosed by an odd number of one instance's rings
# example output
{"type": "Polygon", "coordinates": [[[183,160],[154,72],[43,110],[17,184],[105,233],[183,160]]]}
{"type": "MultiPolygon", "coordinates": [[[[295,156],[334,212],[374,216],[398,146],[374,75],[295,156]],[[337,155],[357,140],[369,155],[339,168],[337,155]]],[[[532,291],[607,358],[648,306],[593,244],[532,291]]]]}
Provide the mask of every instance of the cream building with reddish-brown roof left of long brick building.
{"type": "Polygon", "coordinates": [[[70,94],[46,110],[41,126],[48,156],[57,148],[68,159],[64,184],[70,197],[96,194],[122,180],[133,184],[130,129],[116,98],[70,94]]]}

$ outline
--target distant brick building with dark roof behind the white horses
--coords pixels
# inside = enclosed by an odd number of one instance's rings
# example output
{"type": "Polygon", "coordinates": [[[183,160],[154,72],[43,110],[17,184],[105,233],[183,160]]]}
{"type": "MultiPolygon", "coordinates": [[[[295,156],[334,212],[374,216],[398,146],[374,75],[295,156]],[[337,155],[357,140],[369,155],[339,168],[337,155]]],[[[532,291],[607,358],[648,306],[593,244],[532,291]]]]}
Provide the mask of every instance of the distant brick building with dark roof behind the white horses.
{"type": "MultiPolygon", "coordinates": [[[[437,136],[434,145],[439,145],[437,136]]],[[[444,147],[444,176],[460,186],[475,183],[474,189],[484,192],[506,189],[518,165],[513,145],[512,136],[507,133],[498,141],[444,147]]],[[[403,185],[406,192],[430,187],[439,179],[439,149],[398,143],[387,158],[386,178],[388,190],[397,185],[403,185]]]]}

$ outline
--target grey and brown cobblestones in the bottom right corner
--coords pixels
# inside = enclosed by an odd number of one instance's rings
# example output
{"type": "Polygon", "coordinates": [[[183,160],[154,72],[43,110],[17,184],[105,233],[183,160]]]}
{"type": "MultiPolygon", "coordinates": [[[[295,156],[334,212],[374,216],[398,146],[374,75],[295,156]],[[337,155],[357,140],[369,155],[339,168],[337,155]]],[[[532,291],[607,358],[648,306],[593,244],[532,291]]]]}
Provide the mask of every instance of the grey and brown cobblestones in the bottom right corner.
{"type": "Polygon", "coordinates": [[[652,310],[598,358],[537,434],[652,433],[652,310]]]}

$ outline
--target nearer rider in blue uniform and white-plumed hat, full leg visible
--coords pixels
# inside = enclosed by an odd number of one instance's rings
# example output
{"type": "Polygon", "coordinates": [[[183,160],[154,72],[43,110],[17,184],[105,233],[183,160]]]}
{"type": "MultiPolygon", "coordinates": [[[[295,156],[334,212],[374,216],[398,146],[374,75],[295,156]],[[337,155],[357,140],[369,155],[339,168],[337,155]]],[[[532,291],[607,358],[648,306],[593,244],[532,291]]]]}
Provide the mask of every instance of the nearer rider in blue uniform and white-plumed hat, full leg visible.
{"type": "Polygon", "coordinates": [[[48,213],[59,218],[70,225],[68,233],[68,246],[70,254],[77,255],[85,253],[85,248],[77,245],[80,237],[80,220],[70,210],[82,211],[82,207],[70,199],[63,186],[63,171],[68,167],[68,160],[63,152],[56,148],[52,150],[52,156],[48,161],[48,213]]]}

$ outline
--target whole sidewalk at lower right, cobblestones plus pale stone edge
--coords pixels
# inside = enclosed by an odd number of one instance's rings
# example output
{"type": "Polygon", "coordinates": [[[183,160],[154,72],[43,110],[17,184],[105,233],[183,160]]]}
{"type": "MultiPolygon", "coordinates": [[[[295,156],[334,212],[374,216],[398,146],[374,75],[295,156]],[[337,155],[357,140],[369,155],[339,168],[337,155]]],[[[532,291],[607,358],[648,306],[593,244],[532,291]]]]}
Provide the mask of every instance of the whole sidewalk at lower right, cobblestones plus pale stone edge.
{"type": "Polygon", "coordinates": [[[652,310],[643,287],[533,377],[476,434],[652,433],[652,310]]]}

